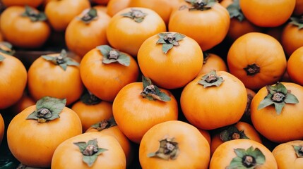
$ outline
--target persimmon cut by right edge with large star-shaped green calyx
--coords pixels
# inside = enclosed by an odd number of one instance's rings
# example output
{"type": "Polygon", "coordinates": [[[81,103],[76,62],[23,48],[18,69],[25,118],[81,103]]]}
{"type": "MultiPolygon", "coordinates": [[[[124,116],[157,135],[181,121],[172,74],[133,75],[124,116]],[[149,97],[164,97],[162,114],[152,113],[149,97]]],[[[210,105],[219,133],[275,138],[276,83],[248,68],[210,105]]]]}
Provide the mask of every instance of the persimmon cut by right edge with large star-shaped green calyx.
{"type": "Polygon", "coordinates": [[[303,137],[303,87],[277,82],[262,87],[251,101],[251,122],[271,142],[290,142],[303,137]]]}

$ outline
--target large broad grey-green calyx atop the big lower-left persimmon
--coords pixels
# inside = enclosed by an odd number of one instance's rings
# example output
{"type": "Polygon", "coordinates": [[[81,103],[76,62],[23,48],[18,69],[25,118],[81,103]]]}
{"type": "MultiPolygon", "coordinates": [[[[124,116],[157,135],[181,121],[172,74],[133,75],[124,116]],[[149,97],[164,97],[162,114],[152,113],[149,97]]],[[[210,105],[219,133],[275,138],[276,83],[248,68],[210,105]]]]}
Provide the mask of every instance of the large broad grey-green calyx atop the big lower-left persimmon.
{"type": "Polygon", "coordinates": [[[60,118],[59,114],[66,105],[66,99],[57,99],[50,96],[44,96],[36,103],[36,110],[26,119],[37,120],[39,123],[45,123],[49,120],[60,118]]]}

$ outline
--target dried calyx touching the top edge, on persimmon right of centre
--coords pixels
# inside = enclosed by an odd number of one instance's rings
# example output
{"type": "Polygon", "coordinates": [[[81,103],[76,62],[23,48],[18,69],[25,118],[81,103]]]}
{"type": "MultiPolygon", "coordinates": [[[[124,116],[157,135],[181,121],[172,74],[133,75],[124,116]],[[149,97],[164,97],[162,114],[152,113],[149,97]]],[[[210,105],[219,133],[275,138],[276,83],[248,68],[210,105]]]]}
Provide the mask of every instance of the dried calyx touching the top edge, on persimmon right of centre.
{"type": "Polygon", "coordinates": [[[206,11],[213,7],[213,5],[216,3],[215,0],[185,0],[188,4],[191,4],[191,6],[180,6],[179,10],[184,10],[186,8],[189,9],[189,11],[206,11]]]}

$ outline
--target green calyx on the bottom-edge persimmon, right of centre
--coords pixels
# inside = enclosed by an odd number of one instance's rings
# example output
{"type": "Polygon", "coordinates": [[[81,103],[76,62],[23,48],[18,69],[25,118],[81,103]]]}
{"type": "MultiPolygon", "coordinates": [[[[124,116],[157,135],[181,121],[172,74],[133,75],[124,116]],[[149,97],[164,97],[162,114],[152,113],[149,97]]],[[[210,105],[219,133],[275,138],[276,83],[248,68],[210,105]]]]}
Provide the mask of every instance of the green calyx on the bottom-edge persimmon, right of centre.
{"type": "Polygon", "coordinates": [[[226,169],[233,168],[256,168],[259,165],[265,163],[266,158],[262,151],[258,148],[254,149],[253,146],[249,149],[234,149],[234,153],[237,155],[232,158],[230,165],[226,169]]]}

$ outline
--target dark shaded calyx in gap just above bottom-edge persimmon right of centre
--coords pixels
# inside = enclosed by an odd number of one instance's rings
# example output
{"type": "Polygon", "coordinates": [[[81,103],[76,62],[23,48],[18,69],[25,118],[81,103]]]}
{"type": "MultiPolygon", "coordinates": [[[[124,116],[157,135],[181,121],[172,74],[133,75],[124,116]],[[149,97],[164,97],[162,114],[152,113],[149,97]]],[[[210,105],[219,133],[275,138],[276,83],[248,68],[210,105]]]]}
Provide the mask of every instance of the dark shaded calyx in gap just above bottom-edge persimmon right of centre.
{"type": "Polygon", "coordinates": [[[249,137],[246,136],[244,130],[238,130],[237,127],[231,125],[226,130],[220,132],[220,139],[222,142],[227,142],[232,139],[249,139],[249,137]]]}

